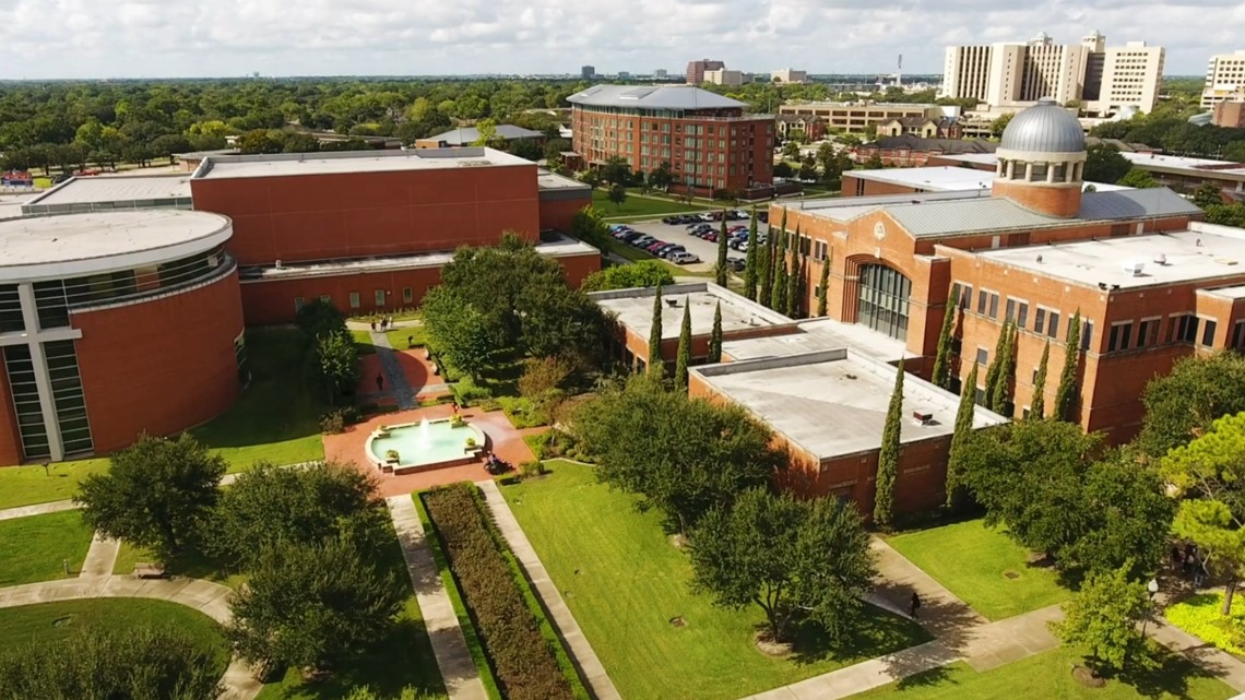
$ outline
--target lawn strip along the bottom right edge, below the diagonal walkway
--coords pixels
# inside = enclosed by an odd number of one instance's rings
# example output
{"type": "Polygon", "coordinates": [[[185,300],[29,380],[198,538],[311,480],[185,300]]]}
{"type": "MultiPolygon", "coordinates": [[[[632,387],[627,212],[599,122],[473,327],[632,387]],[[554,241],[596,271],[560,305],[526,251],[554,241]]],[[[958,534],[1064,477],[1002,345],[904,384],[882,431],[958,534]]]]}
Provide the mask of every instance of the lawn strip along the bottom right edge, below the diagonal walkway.
{"type": "Polygon", "coordinates": [[[1081,656],[1053,649],[995,670],[976,673],[964,663],[852,695],[852,700],[1224,700],[1235,691],[1183,656],[1163,653],[1154,671],[1087,688],[1072,678],[1081,656]]]}

